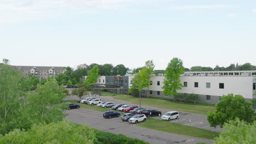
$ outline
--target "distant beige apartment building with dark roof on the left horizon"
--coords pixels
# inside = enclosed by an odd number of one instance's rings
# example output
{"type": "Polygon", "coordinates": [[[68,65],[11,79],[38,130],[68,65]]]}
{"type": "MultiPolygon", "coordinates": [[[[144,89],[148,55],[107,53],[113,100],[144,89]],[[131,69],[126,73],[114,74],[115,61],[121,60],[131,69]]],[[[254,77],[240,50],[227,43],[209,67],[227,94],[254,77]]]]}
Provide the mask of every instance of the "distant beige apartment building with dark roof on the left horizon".
{"type": "Polygon", "coordinates": [[[60,73],[64,73],[66,67],[39,67],[39,66],[18,66],[12,65],[16,70],[19,70],[22,77],[33,75],[37,77],[47,78],[51,76],[56,76],[60,73]]]}

